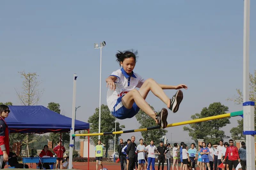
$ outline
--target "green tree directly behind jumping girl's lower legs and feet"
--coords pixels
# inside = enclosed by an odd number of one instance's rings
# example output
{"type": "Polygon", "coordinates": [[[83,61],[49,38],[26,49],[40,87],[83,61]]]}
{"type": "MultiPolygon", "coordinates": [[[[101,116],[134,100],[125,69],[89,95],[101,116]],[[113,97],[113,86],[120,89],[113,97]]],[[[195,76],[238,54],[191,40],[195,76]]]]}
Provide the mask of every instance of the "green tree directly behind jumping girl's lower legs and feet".
{"type": "MultiPolygon", "coordinates": [[[[150,106],[153,110],[154,107],[150,106]]],[[[157,126],[156,122],[148,116],[146,113],[144,113],[142,110],[140,110],[136,115],[136,119],[140,123],[139,128],[148,128],[152,126],[157,126]]],[[[148,131],[141,131],[141,136],[143,137],[143,141],[147,144],[150,143],[150,140],[154,140],[155,143],[159,143],[161,138],[167,133],[167,130],[164,129],[154,129],[154,130],[148,130],[148,131]]]]}

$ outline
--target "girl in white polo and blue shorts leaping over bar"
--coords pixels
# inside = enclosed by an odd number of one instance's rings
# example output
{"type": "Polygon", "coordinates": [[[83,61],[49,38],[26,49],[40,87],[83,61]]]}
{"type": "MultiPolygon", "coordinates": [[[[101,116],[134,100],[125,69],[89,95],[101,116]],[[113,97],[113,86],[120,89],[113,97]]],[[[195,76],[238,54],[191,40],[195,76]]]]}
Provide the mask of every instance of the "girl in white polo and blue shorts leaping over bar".
{"type": "Polygon", "coordinates": [[[116,60],[123,68],[112,72],[106,79],[107,87],[107,105],[117,119],[132,118],[139,110],[143,110],[148,116],[155,120],[161,128],[167,126],[168,112],[165,108],[156,115],[154,110],[146,102],[148,92],[153,92],[156,97],[161,99],[173,113],[177,112],[183,93],[178,90],[176,94],[170,99],[164,93],[163,89],[187,89],[187,85],[161,85],[155,80],[149,78],[144,80],[139,74],[134,73],[136,58],[138,52],[135,51],[119,51],[116,54],[116,60]],[[140,88],[139,90],[135,89],[140,88]]]}

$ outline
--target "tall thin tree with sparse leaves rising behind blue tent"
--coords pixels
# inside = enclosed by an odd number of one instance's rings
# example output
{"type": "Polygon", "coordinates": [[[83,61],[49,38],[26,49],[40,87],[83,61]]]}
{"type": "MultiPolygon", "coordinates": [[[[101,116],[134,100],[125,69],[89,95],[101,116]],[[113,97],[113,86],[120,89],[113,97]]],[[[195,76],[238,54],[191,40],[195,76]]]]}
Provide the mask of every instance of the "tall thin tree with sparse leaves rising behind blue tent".
{"type": "MultiPolygon", "coordinates": [[[[26,73],[24,70],[21,72],[18,72],[21,75],[21,78],[23,79],[22,82],[22,92],[17,92],[15,89],[18,98],[20,99],[20,103],[25,106],[34,106],[37,105],[37,102],[40,100],[40,98],[43,95],[44,90],[39,90],[38,86],[41,84],[41,81],[37,80],[38,75],[36,72],[34,73],[26,73]]],[[[28,149],[28,134],[26,136],[26,145],[27,145],[27,152],[29,157],[29,149],[28,149]]]]}

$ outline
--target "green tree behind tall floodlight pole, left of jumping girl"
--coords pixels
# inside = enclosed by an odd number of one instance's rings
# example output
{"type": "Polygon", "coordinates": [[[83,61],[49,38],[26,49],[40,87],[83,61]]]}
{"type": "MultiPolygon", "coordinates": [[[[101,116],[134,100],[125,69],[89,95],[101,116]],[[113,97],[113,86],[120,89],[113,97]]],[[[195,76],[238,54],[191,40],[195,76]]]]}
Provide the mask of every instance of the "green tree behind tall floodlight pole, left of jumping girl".
{"type": "MultiPolygon", "coordinates": [[[[111,115],[107,105],[101,105],[100,117],[101,117],[101,122],[100,122],[101,132],[115,131],[116,118],[113,115],[111,115]]],[[[97,107],[95,109],[94,114],[89,117],[88,122],[90,123],[90,133],[98,133],[99,132],[99,107],[97,107]]],[[[116,122],[116,131],[120,131],[123,128],[125,128],[124,125],[120,125],[119,122],[116,122]]],[[[116,134],[116,144],[118,144],[118,139],[120,136],[121,134],[116,134]]],[[[105,135],[100,137],[101,142],[106,145],[106,153],[108,153],[108,148],[109,148],[108,142],[109,140],[114,141],[114,137],[115,135],[105,135]]],[[[93,140],[94,144],[96,145],[98,141],[98,136],[91,136],[90,138],[93,140]]]]}

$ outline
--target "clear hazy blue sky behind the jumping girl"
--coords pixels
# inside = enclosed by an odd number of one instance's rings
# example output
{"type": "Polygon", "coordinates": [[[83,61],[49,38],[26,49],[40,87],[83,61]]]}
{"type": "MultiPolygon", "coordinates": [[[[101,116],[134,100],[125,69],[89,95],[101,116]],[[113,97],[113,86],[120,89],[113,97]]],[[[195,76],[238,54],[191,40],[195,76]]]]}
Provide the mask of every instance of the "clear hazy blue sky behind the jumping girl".
{"type": "MultiPolygon", "coordinates": [[[[1,101],[20,102],[18,71],[36,72],[44,95],[39,105],[60,103],[71,117],[73,73],[77,73],[77,119],[87,121],[99,107],[100,50],[93,43],[106,41],[102,50],[102,97],[105,78],[119,69],[117,50],[136,49],[134,72],[161,84],[184,83],[179,112],[170,112],[168,123],[189,120],[212,102],[229,111],[242,110],[228,97],[242,89],[244,1],[1,1],[0,71],[1,101]]],[[[255,69],[256,3],[251,1],[250,71],[255,69]]],[[[175,90],[166,90],[172,97],[175,90]]],[[[165,105],[149,94],[156,110],[165,105]]],[[[229,130],[237,125],[224,129],[229,130]]],[[[120,120],[125,130],[139,127],[136,118],[120,120]],[[133,124],[133,125],[132,125],[133,124]]],[[[189,140],[182,127],[169,128],[167,138],[189,140]],[[182,135],[180,135],[182,134],[182,135]]],[[[134,133],[139,138],[140,132],[134,133]]],[[[122,135],[123,138],[130,134],[122,135]]]]}

